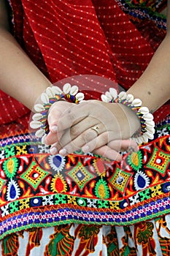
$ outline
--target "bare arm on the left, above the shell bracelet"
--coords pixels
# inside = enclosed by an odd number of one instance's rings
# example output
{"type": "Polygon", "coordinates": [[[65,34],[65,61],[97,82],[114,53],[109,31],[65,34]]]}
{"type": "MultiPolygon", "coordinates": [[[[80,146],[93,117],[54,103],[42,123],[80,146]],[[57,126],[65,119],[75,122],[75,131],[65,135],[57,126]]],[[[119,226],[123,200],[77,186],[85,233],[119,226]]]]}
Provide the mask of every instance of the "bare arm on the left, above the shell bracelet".
{"type": "Polygon", "coordinates": [[[5,1],[0,1],[0,89],[33,108],[50,81],[37,69],[9,32],[5,1]]]}

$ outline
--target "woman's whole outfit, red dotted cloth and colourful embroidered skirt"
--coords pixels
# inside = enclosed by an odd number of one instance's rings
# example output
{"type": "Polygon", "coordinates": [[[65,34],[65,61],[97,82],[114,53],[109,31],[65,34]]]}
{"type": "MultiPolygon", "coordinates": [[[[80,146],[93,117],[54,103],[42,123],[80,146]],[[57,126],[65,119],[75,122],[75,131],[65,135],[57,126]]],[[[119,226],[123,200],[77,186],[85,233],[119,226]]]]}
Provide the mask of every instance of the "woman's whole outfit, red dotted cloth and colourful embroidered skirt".
{"type": "MultiPolygon", "coordinates": [[[[89,74],[128,89],[165,37],[166,19],[155,12],[164,2],[12,0],[10,7],[16,39],[52,83],[89,74]]],[[[86,96],[98,99],[108,86],[91,81],[86,96]]],[[[2,256],[169,254],[168,103],[155,113],[154,140],[111,162],[80,151],[50,155],[28,132],[29,111],[1,98],[9,102],[0,127],[2,256]]]]}

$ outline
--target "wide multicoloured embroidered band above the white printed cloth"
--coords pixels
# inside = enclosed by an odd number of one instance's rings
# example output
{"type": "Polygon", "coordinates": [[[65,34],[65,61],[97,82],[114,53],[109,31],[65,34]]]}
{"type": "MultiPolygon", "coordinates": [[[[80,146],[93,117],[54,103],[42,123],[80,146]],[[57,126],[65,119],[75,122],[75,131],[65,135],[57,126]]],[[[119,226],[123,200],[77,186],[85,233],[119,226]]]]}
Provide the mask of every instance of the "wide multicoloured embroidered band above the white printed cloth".
{"type": "Polygon", "coordinates": [[[82,152],[52,157],[34,137],[28,142],[28,135],[25,140],[17,136],[14,144],[4,140],[1,238],[37,225],[128,225],[169,213],[167,120],[158,126],[154,141],[137,153],[124,154],[120,163],[82,152]],[[165,135],[158,138],[161,130],[165,135]]]}

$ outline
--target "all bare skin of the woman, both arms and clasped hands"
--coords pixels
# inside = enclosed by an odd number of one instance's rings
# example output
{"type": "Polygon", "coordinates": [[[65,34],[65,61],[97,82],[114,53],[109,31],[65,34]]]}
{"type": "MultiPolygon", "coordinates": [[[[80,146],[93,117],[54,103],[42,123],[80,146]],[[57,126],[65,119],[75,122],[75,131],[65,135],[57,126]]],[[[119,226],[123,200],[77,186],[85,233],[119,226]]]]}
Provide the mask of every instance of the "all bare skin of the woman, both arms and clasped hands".
{"type": "MultiPolygon", "coordinates": [[[[170,1],[168,5],[170,6],[170,1]]],[[[128,90],[134,97],[142,99],[143,105],[150,111],[155,111],[163,105],[170,94],[170,54],[167,54],[170,44],[170,7],[168,8],[166,38],[142,77],[128,90]]],[[[12,37],[7,20],[4,1],[0,1],[0,88],[32,109],[39,95],[51,83],[12,37]]],[[[72,153],[75,148],[82,148],[85,152],[93,151],[104,157],[120,160],[119,151],[127,150],[129,146],[138,150],[136,143],[129,138],[139,129],[139,120],[133,111],[123,105],[93,100],[82,105],[56,102],[50,109],[48,121],[50,134],[46,143],[52,145],[52,154],[59,151],[60,154],[66,155],[72,153]],[[109,118],[104,119],[106,113],[109,118]],[[98,136],[90,129],[94,125],[99,127],[98,136]]]]}

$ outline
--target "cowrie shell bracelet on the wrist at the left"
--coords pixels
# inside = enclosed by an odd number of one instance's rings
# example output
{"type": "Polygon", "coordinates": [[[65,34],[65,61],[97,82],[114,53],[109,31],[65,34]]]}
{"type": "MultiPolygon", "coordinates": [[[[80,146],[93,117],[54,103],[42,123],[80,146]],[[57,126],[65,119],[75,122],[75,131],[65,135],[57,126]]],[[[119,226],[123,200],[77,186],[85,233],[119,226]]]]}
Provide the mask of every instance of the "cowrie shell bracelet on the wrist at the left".
{"type": "Polygon", "coordinates": [[[63,91],[58,86],[50,86],[41,94],[42,104],[37,103],[34,105],[36,113],[32,116],[30,127],[36,129],[35,135],[38,138],[42,138],[42,143],[45,143],[45,138],[49,132],[47,116],[50,107],[60,99],[66,99],[79,104],[83,101],[84,94],[78,91],[78,86],[71,86],[69,83],[66,83],[63,86],[63,91]]]}

